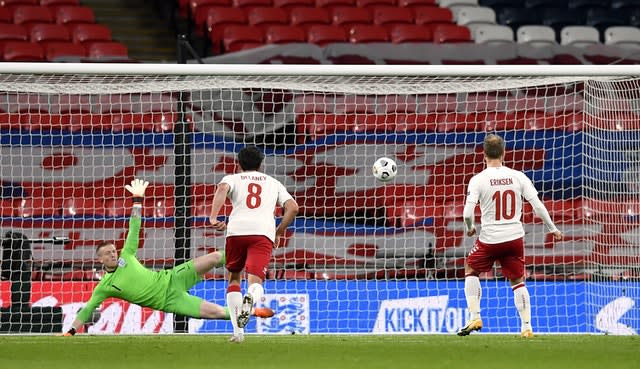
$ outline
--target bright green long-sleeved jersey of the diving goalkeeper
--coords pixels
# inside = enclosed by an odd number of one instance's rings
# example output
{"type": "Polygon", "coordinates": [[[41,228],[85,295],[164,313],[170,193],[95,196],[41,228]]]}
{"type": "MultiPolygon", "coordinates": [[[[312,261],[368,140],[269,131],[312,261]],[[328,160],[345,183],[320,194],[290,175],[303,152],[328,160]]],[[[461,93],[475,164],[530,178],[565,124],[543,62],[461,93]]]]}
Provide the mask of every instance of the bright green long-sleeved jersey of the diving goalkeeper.
{"type": "Polygon", "coordinates": [[[130,218],[129,233],[118,259],[118,267],[102,277],[87,305],[78,312],[78,320],[89,320],[93,311],[109,297],[165,310],[171,275],[166,270],[155,272],[147,269],[136,258],[140,223],[139,216],[130,218]]]}

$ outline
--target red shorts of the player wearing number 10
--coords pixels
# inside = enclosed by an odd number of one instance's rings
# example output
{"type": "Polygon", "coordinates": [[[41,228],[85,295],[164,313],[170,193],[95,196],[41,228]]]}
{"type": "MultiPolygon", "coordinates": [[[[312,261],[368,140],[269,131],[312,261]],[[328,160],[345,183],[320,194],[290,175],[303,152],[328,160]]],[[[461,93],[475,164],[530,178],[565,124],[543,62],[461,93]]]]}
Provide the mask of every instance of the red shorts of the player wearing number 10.
{"type": "Polygon", "coordinates": [[[524,241],[515,240],[486,244],[476,240],[469,255],[467,265],[477,272],[488,272],[495,262],[502,266],[502,274],[507,279],[518,279],[524,276],[524,241]]]}

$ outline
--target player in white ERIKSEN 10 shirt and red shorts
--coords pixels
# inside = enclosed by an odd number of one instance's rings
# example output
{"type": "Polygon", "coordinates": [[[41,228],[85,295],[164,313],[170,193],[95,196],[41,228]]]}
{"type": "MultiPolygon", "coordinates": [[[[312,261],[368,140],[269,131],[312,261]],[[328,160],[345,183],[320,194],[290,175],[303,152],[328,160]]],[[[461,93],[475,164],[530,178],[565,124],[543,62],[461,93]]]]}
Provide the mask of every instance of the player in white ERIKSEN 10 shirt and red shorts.
{"type": "Polygon", "coordinates": [[[524,284],[524,229],[520,222],[523,198],[533,206],[547,230],[553,233],[554,239],[562,239],[562,233],[553,224],[531,180],[524,173],[503,166],[503,158],[502,138],[487,135],[484,140],[487,167],[469,181],[463,212],[467,236],[472,237],[476,234],[474,210],[476,204],[480,203],[482,229],[465,263],[464,294],[471,317],[458,331],[459,336],[482,329],[482,289],[478,276],[491,270],[493,264],[499,261],[502,274],[511,282],[515,305],[520,314],[521,336],[533,337],[529,291],[524,284]]]}

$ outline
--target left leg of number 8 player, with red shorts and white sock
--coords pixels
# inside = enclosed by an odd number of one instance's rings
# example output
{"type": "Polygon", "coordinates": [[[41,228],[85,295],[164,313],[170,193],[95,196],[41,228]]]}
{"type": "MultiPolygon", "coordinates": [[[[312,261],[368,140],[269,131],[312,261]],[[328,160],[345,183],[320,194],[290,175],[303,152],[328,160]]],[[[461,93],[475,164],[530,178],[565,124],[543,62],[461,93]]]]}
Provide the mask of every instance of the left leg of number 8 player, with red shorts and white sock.
{"type": "Polygon", "coordinates": [[[226,300],[233,325],[233,336],[229,341],[236,343],[244,340],[244,328],[238,326],[238,315],[242,309],[241,273],[247,259],[247,246],[243,238],[244,236],[227,237],[225,247],[226,267],[229,271],[226,300]]]}

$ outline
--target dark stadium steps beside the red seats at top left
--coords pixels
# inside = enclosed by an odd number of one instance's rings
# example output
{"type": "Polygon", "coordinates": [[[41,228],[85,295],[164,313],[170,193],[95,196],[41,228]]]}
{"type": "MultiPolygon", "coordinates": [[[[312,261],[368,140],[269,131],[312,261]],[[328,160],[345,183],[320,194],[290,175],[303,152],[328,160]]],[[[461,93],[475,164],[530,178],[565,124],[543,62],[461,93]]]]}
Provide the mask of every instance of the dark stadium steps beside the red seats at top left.
{"type": "Polygon", "coordinates": [[[114,40],[127,45],[129,57],[142,62],[175,62],[175,36],[147,1],[84,0],[96,22],[111,29],[114,40]]]}

